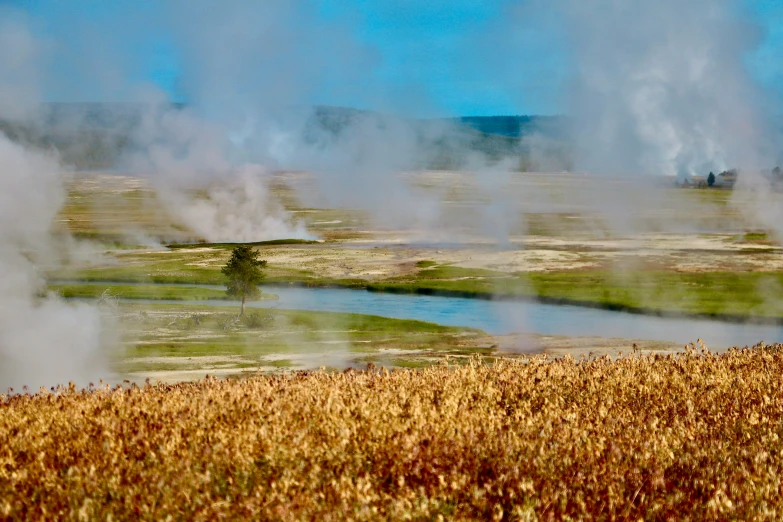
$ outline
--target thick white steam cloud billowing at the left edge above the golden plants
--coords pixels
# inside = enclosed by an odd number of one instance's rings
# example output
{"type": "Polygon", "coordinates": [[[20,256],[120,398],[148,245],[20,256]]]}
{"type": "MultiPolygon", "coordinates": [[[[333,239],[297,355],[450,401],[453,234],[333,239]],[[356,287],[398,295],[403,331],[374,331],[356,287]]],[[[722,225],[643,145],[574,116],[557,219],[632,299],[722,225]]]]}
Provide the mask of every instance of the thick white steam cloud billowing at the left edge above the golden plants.
{"type": "Polygon", "coordinates": [[[52,222],[65,201],[54,158],[0,135],[0,388],[108,377],[102,317],[87,304],[41,298],[36,266],[56,258],[52,222]]]}

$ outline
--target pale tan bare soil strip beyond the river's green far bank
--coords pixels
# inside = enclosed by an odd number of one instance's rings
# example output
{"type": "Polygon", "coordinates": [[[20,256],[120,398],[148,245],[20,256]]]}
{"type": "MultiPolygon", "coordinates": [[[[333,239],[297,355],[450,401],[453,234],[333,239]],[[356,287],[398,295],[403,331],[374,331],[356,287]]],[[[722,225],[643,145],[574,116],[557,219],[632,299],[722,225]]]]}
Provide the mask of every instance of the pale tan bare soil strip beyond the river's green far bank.
{"type": "MultiPolygon", "coordinates": [[[[414,273],[418,261],[462,268],[506,273],[568,271],[609,267],[654,265],[675,271],[778,271],[783,270],[783,249],[776,246],[738,244],[733,236],[650,236],[615,240],[567,240],[526,238],[518,249],[499,250],[491,246],[443,248],[416,245],[361,247],[345,241],[319,245],[286,245],[262,248],[273,268],[305,270],[314,277],[382,280],[414,273]]],[[[196,251],[196,249],[194,249],[196,251]]],[[[172,251],[176,253],[183,251],[172,251]]],[[[208,254],[209,249],[197,249],[208,254]]],[[[225,252],[187,263],[190,266],[220,267],[225,252]]]]}

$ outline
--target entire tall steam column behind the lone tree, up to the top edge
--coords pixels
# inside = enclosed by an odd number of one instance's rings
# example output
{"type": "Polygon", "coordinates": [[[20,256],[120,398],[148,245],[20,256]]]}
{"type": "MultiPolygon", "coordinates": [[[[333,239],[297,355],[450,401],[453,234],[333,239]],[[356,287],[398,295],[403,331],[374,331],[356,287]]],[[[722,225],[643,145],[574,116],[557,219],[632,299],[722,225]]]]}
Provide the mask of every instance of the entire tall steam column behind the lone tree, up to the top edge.
{"type": "Polygon", "coordinates": [[[309,0],[174,1],[159,16],[189,107],[145,116],[132,163],[147,163],[169,211],[204,239],[309,238],[274,204],[269,173],[281,159],[290,164],[298,144],[304,116],[292,108],[370,58],[309,0]]]}

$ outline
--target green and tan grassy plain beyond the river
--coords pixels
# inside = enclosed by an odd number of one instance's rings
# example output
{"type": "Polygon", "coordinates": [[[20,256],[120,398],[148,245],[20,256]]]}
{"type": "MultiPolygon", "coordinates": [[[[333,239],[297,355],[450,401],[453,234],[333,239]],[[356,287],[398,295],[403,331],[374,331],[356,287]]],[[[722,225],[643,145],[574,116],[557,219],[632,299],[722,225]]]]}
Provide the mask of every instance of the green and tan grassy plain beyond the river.
{"type": "MultiPolygon", "coordinates": [[[[410,181],[416,190],[441,198],[434,230],[383,227],[361,210],[318,207],[304,197],[310,190],[305,175],[273,176],[270,187],[278,202],[320,241],[257,244],[268,261],[266,282],[783,322],[778,299],[783,249],[774,231],[749,214],[752,202],[738,200],[737,192],[648,191],[580,176],[518,175],[502,196],[513,198],[521,211],[507,219],[507,241],[498,244],[486,237],[482,221],[484,208],[498,194],[484,191],[475,175],[425,172],[411,174],[410,181]],[[602,200],[621,208],[596,205],[602,200]],[[442,243],[422,242],[430,237],[442,243]]],[[[232,245],[198,243],[141,180],[76,179],[60,223],[103,245],[105,254],[49,272],[50,280],[141,284],[119,292],[148,299],[221,294],[166,286],[223,284],[220,268],[232,245]]],[[[98,292],[77,285],[57,290],[74,297],[98,292]]],[[[267,291],[274,293],[274,286],[267,291]]],[[[215,345],[216,356],[231,354],[221,351],[224,342],[215,345]]],[[[395,365],[421,360],[398,358],[395,365]]]]}

